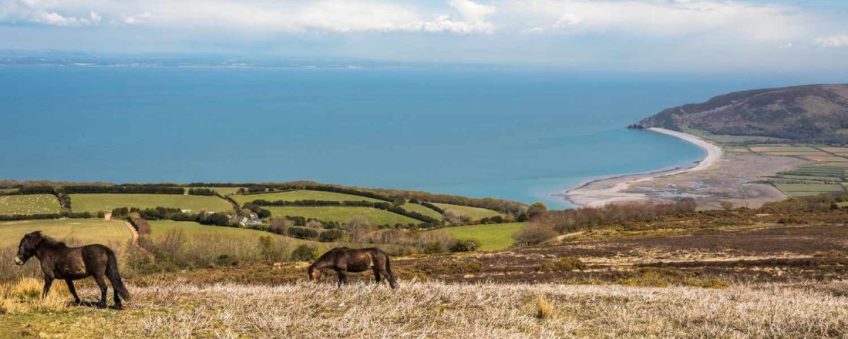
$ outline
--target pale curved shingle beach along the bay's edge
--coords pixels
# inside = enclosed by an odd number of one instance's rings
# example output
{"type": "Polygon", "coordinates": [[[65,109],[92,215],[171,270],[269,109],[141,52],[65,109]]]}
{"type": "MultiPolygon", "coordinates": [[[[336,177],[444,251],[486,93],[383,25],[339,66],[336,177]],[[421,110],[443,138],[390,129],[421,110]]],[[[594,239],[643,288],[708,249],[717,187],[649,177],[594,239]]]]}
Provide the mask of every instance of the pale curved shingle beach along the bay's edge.
{"type": "Polygon", "coordinates": [[[562,196],[572,204],[580,207],[601,207],[615,202],[647,200],[648,197],[645,194],[628,193],[624,191],[630,188],[630,186],[634,183],[650,181],[659,177],[667,177],[709,169],[714,166],[723,155],[721,147],[691,134],[658,127],[647,128],[647,130],[654,133],[669,135],[694,144],[704,151],[704,158],[687,167],[660,169],[636,174],[623,174],[591,180],[576,188],[565,191],[562,196]]]}

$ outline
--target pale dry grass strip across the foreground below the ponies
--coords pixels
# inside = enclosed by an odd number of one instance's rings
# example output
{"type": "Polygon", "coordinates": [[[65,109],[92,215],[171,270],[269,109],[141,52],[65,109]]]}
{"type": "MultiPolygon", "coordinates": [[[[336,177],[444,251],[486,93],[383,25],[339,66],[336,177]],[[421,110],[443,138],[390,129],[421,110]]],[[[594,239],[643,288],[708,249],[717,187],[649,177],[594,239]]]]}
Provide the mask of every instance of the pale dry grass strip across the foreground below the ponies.
{"type": "Polygon", "coordinates": [[[173,284],[131,287],[125,311],[4,315],[0,329],[168,338],[844,337],[848,297],[831,291],[845,286],[173,284]]]}

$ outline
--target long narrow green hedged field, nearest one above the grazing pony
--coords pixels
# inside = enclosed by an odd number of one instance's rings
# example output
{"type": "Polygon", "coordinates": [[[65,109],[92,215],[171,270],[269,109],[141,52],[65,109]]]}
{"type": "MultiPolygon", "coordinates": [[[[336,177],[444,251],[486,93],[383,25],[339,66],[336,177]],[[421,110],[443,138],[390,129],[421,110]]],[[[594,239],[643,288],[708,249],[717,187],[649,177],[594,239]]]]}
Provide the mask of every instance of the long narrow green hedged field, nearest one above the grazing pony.
{"type": "Polygon", "coordinates": [[[420,224],[420,220],[370,207],[301,207],[301,206],[265,206],[272,216],[292,216],[314,218],[321,221],[337,221],[345,223],[354,216],[360,215],[368,219],[371,225],[420,224]]]}

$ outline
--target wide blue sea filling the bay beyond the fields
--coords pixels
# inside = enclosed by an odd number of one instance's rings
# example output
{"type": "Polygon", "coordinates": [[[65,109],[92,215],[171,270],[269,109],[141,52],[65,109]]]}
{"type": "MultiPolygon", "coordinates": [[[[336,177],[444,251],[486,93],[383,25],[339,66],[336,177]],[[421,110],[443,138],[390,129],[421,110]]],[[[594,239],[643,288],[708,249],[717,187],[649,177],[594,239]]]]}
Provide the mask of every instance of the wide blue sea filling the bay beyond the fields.
{"type": "Polygon", "coordinates": [[[532,70],[5,67],[0,178],[308,179],[566,207],[552,194],[703,155],[627,124],[781,84],[532,70]]]}

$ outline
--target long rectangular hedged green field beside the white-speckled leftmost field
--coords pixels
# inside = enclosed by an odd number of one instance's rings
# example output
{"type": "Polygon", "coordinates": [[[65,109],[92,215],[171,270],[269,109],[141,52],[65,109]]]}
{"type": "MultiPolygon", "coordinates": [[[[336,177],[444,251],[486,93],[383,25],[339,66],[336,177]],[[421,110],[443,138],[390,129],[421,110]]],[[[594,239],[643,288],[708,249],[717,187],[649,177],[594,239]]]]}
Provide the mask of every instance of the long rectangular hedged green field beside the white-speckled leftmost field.
{"type": "Polygon", "coordinates": [[[118,207],[171,207],[192,212],[230,212],[233,207],[216,196],[180,194],[71,194],[74,212],[111,211],[118,207]]]}

